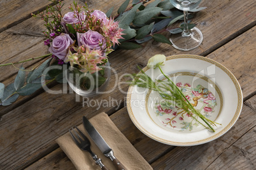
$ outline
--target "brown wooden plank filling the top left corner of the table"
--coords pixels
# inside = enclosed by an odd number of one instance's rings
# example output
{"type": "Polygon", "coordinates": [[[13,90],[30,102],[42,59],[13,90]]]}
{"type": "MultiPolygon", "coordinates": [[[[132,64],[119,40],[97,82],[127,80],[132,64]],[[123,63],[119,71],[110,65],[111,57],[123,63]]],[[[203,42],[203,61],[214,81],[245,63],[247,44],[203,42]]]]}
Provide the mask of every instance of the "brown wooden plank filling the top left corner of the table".
{"type": "Polygon", "coordinates": [[[42,9],[45,9],[45,6],[48,4],[51,4],[48,0],[0,1],[0,32],[23,22],[27,18],[30,18],[32,12],[41,11],[42,9]]]}

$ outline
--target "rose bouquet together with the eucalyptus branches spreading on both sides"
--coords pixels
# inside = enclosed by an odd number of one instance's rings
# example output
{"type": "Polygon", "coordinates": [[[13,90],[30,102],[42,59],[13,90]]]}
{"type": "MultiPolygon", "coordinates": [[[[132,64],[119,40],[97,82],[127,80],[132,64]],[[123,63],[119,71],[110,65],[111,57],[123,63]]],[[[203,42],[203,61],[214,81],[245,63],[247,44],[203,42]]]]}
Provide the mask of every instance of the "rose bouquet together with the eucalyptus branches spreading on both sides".
{"type": "MultiPolygon", "coordinates": [[[[49,1],[52,2],[52,6],[47,6],[45,11],[32,16],[39,16],[45,21],[47,30],[43,31],[46,37],[44,44],[49,47],[50,53],[20,62],[3,63],[0,67],[39,58],[47,60],[29,70],[27,77],[27,70],[21,65],[15,81],[8,86],[0,82],[0,105],[10,105],[18,96],[31,95],[52,81],[63,82],[64,66],[71,67],[80,74],[92,74],[94,78],[97,77],[100,86],[106,81],[104,65],[108,63],[107,56],[117,46],[122,49],[141,48],[141,44],[150,39],[171,44],[162,32],[175,34],[182,32],[183,29],[182,23],[180,27],[169,27],[183,18],[183,13],[174,8],[169,0],[156,0],[152,3],[146,3],[146,0],[133,0],[130,7],[131,0],[125,0],[118,8],[117,15],[113,17],[111,14],[114,7],[105,14],[103,11],[89,10],[86,4],[78,6],[75,1],[73,6],[69,7],[70,11],[63,15],[62,1],[49,1]],[[43,75],[50,64],[62,66],[62,70],[53,69],[43,75]],[[97,74],[98,72],[100,74],[97,74]]],[[[204,8],[196,8],[190,12],[200,10],[204,8]]],[[[190,15],[190,18],[192,17],[190,15]]],[[[188,26],[191,29],[195,24],[189,23],[188,26]]],[[[83,82],[87,83],[87,79],[88,77],[85,77],[83,82]]],[[[90,86],[91,84],[85,84],[85,89],[90,86]]]]}

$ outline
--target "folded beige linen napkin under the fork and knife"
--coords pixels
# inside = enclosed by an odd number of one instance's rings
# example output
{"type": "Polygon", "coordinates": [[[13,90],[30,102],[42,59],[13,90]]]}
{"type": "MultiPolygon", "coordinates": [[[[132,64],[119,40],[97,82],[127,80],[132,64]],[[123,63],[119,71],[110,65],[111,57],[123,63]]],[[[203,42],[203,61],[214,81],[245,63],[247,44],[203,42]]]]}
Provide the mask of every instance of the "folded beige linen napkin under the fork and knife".
{"type": "MultiPolygon", "coordinates": [[[[117,126],[115,126],[107,114],[104,112],[98,114],[92,117],[90,122],[101,134],[101,136],[103,136],[106,143],[110,145],[115,157],[117,157],[117,159],[122,162],[127,170],[152,169],[150,164],[148,164],[148,162],[146,162],[146,160],[132,146],[130,141],[125,138],[124,134],[119,131],[117,126]]],[[[101,159],[104,166],[106,166],[109,170],[114,170],[115,166],[113,166],[112,161],[105,157],[99,148],[97,148],[95,143],[90,139],[89,134],[83,128],[83,124],[78,126],[78,128],[85,134],[85,136],[89,138],[92,152],[94,152],[94,154],[96,154],[97,157],[101,159]]],[[[73,162],[76,169],[101,169],[98,165],[95,164],[95,161],[92,159],[89,152],[84,152],[76,146],[69,133],[60,136],[56,142],[73,162]]]]}

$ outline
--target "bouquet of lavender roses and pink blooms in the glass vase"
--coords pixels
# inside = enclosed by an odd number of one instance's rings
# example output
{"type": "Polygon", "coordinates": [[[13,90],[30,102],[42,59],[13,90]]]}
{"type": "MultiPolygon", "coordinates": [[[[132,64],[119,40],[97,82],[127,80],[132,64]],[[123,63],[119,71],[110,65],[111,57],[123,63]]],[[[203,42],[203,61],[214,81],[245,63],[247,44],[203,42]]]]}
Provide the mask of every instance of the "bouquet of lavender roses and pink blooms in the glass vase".
{"type": "Polygon", "coordinates": [[[123,38],[123,29],[102,11],[90,11],[86,4],[80,7],[75,1],[75,8],[70,6],[71,11],[62,15],[59,3],[57,8],[48,8],[46,14],[38,14],[46,22],[45,45],[50,53],[59,64],[70,63],[81,72],[101,70],[99,65],[108,61],[106,56],[113,51],[111,47],[123,38]]]}

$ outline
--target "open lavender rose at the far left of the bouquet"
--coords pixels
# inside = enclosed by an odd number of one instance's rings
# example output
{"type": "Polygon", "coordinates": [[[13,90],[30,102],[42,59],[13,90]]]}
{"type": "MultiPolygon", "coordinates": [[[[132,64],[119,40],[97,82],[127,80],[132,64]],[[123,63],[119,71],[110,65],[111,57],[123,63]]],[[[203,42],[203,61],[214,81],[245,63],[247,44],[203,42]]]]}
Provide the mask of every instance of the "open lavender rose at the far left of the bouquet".
{"type": "Polygon", "coordinates": [[[48,49],[50,53],[57,56],[60,60],[64,60],[68,53],[68,47],[73,44],[73,40],[68,34],[60,34],[53,39],[48,49]]]}

